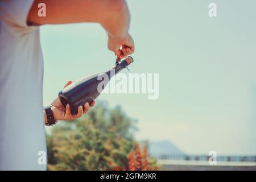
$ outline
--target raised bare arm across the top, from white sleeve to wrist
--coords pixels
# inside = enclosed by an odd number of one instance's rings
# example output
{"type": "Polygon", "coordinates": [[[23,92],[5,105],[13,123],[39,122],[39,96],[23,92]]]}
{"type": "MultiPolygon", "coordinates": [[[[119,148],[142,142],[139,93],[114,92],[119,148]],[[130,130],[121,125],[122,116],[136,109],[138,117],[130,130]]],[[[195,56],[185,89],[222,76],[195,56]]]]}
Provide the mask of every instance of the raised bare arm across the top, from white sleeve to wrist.
{"type": "Polygon", "coordinates": [[[29,24],[63,24],[96,22],[108,34],[123,39],[129,28],[129,11],[125,0],[35,0],[28,14],[29,24]],[[38,4],[46,4],[46,16],[38,16],[38,4]]]}

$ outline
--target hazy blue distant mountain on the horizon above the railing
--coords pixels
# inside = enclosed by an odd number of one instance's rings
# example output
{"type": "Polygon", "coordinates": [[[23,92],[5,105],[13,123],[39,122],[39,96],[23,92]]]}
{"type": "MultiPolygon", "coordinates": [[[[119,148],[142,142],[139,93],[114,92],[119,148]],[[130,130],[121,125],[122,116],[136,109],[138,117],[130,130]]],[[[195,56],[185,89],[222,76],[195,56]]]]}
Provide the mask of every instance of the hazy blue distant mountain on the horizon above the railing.
{"type": "Polygon", "coordinates": [[[177,148],[174,144],[168,140],[162,140],[158,142],[149,142],[150,155],[185,155],[183,151],[177,148]]]}

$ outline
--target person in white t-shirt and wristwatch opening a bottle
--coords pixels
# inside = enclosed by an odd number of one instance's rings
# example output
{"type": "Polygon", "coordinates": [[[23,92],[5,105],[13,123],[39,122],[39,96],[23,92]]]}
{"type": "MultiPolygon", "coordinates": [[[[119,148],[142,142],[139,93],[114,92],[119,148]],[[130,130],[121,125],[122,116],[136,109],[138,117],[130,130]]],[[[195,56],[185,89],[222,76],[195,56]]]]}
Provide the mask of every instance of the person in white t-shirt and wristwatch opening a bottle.
{"type": "MultiPolygon", "coordinates": [[[[129,34],[130,15],[125,0],[1,0],[0,1],[0,169],[46,170],[39,157],[46,152],[44,125],[72,120],[88,112],[94,102],[72,115],[56,98],[44,110],[43,24],[95,22],[107,32],[108,48],[117,59],[134,52],[129,34]],[[44,3],[46,16],[39,16],[44,3]]],[[[89,35],[88,35],[89,36],[89,35]]],[[[69,81],[65,86],[71,84],[69,81]]]]}

